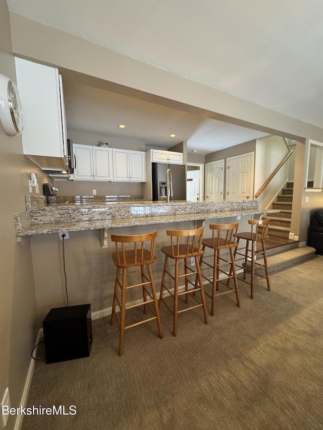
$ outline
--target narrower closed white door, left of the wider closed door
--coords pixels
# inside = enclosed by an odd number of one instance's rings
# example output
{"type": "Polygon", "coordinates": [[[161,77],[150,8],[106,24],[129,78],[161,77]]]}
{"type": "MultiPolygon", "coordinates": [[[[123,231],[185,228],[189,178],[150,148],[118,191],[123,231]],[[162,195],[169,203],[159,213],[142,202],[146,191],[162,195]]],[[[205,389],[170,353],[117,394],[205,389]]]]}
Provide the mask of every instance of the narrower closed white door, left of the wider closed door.
{"type": "Polygon", "coordinates": [[[224,160],[206,163],[205,200],[221,202],[224,186],[224,160]]]}

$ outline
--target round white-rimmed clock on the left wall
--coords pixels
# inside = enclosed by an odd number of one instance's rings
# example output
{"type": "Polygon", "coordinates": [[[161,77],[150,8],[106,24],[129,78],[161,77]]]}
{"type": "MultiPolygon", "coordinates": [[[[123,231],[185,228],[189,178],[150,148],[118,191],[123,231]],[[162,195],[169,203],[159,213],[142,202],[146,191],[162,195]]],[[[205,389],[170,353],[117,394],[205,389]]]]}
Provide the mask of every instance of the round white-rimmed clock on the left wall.
{"type": "Polygon", "coordinates": [[[2,74],[0,74],[0,119],[9,136],[18,135],[24,128],[18,88],[8,76],[2,74]]]}

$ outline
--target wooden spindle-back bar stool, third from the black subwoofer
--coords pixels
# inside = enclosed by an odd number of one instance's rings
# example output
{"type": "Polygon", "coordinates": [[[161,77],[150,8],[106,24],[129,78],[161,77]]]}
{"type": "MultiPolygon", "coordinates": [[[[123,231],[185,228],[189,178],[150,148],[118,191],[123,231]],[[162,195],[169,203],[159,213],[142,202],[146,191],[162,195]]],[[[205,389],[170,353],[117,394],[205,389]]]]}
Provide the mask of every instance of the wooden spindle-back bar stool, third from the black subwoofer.
{"type": "Polygon", "coordinates": [[[203,279],[208,280],[212,284],[212,295],[208,294],[205,291],[205,294],[212,299],[211,302],[211,316],[214,316],[214,304],[216,301],[216,297],[222,294],[227,294],[230,292],[236,293],[237,306],[240,308],[240,300],[239,300],[239,290],[238,290],[238,281],[237,281],[237,273],[235,269],[235,260],[234,260],[234,250],[238,246],[238,242],[236,240],[237,230],[239,227],[239,223],[235,224],[210,224],[210,229],[212,230],[212,237],[202,240],[202,251],[205,251],[205,248],[210,248],[213,250],[213,253],[205,256],[205,254],[200,257],[200,268],[201,268],[201,276],[203,279]],[[224,251],[229,251],[229,256],[224,257],[224,251]],[[220,257],[220,251],[221,256],[220,257]],[[213,264],[209,264],[205,261],[205,259],[212,257],[213,264]],[[207,267],[202,268],[202,264],[207,267]],[[223,270],[222,267],[224,265],[230,264],[230,268],[228,271],[223,270]],[[212,277],[208,278],[204,276],[203,271],[212,269],[212,277]],[[230,288],[229,280],[234,279],[234,288],[230,288]],[[227,280],[227,283],[224,281],[227,280]],[[227,287],[226,291],[219,291],[219,283],[225,285],[227,287]]]}

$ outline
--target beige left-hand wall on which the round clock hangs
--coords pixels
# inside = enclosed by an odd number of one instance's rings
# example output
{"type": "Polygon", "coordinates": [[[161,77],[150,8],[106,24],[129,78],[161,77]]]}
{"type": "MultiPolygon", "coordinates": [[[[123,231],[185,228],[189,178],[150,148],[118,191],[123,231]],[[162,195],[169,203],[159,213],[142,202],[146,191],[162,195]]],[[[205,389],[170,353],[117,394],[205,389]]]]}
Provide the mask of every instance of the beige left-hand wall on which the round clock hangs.
{"type": "MultiPolygon", "coordinates": [[[[5,0],[0,0],[0,73],[16,82],[9,11],[5,0]]],[[[11,404],[18,407],[39,322],[30,238],[25,237],[20,243],[17,242],[14,214],[25,210],[25,195],[29,194],[28,174],[36,172],[40,183],[45,181],[46,176],[22,155],[21,136],[9,137],[1,123],[0,160],[0,398],[9,387],[11,404]]],[[[15,416],[9,417],[6,430],[14,428],[15,419],[15,416]]]]}

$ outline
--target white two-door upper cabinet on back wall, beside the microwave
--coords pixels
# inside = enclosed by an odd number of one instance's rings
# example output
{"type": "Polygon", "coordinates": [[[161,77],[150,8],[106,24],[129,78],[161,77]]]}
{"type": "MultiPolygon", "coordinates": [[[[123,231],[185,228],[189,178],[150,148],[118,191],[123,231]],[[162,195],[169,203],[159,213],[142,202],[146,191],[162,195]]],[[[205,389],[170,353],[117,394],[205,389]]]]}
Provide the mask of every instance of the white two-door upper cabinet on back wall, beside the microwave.
{"type": "Polygon", "coordinates": [[[89,145],[73,145],[75,180],[112,180],[112,151],[89,145]]]}

